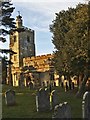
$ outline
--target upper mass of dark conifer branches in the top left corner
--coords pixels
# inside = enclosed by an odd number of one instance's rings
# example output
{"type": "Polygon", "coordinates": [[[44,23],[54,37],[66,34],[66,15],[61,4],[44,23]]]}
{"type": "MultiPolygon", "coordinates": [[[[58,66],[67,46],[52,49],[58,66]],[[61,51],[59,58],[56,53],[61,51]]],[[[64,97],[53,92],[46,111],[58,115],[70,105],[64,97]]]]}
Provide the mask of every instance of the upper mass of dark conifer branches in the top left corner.
{"type": "Polygon", "coordinates": [[[6,42],[7,34],[10,34],[10,29],[15,28],[14,18],[11,17],[15,7],[11,7],[10,0],[0,0],[0,41],[6,42]]]}

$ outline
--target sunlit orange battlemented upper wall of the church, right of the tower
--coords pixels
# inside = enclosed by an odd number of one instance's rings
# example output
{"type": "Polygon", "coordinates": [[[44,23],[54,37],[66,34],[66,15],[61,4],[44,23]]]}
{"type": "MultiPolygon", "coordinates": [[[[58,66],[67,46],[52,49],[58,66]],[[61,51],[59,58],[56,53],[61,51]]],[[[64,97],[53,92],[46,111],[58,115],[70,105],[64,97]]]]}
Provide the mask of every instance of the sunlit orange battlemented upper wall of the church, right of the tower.
{"type": "Polygon", "coordinates": [[[45,72],[50,69],[50,59],[54,57],[53,54],[40,55],[35,57],[23,58],[23,66],[33,66],[36,71],[45,72]]]}

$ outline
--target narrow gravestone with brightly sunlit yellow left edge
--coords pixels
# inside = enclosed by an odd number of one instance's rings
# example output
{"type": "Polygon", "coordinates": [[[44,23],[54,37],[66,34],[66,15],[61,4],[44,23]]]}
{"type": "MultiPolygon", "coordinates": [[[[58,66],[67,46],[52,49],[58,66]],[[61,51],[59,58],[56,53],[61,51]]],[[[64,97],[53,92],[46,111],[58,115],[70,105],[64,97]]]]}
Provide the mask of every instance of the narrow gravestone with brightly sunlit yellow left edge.
{"type": "Polygon", "coordinates": [[[58,96],[55,90],[53,90],[50,94],[50,103],[51,109],[53,109],[58,104],[58,96]]]}

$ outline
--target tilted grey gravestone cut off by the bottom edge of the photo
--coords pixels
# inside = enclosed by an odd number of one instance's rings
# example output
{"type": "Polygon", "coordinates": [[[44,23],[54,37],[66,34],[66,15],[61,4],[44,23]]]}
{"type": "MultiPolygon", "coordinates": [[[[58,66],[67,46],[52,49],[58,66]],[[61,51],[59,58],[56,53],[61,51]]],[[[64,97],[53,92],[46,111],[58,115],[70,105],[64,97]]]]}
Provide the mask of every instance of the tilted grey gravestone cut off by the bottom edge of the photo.
{"type": "Polygon", "coordinates": [[[52,118],[53,119],[60,118],[60,120],[70,119],[71,118],[71,106],[67,102],[56,105],[52,118]]]}

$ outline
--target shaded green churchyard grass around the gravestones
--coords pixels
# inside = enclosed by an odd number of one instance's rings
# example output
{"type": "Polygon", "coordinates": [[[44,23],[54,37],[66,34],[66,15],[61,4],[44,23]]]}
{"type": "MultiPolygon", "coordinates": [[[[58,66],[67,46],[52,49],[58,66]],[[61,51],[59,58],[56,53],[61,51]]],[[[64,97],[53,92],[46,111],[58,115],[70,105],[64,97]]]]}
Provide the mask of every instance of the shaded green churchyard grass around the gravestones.
{"type": "MultiPolygon", "coordinates": [[[[47,112],[37,112],[35,105],[36,90],[30,90],[29,88],[22,87],[12,87],[4,85],[2,87],[2,92],[5,93],[8,89],[15,90],[16,93],[16,105],[7,106],[5,104],[4,94],[2,95],[2,116],[3,118],[51,118],[53,114],[52,111],[47,112]],[[22,93],[22,94],[18,94],[22,93]]],[[[68,102],[71,105],[72,117],[81,118],[82,117],[82,99],[77,99],[75,97],[76,90],[64,92],[64,89],[60,87],[53,88],[56,89],[58,94],[59,103],[68,102]]]]}

